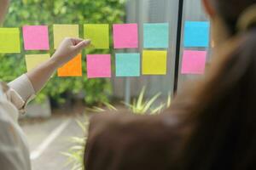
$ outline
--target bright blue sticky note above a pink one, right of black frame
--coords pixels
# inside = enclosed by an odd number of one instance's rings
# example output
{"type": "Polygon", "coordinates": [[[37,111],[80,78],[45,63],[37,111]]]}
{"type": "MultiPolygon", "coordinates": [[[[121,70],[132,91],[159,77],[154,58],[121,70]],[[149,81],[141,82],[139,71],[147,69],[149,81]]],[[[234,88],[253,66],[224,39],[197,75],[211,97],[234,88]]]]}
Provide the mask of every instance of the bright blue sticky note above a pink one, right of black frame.
{"type": "Polygon", "coordinates": [[[207,48],[209,46],[210,22],[186,21],[184,31],[185,48],[207,48]]]}

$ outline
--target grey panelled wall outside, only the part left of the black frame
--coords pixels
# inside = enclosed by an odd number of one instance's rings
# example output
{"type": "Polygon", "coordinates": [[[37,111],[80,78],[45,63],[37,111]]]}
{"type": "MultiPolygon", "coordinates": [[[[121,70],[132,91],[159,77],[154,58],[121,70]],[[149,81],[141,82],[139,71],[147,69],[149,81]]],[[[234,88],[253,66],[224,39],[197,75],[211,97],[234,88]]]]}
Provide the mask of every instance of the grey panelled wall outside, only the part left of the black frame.
{"type": "Polygon", "coordinates": [[[167,75],[166,76],[142,76],[137,78],[113,79],[113,93],[115,97],[124,98],[125,91],[129,90],[132,96],[137,96],[143,86],[147,87],[146,96],[161,93],[166,97],[173,90],[174,80],[174,56],[177,37],[177,12],[178,1],[175,0],[130,0],[127,3],[127,23],[138,23],[140,48],[133,52],[143,52],[143,23],[163,23],[170,24],[170,46],[167,49],[167,75]],[[126,86],[125,86],[126,85],[126,86]],[[126,90],[125,90],[126,88],[126,90]]]}

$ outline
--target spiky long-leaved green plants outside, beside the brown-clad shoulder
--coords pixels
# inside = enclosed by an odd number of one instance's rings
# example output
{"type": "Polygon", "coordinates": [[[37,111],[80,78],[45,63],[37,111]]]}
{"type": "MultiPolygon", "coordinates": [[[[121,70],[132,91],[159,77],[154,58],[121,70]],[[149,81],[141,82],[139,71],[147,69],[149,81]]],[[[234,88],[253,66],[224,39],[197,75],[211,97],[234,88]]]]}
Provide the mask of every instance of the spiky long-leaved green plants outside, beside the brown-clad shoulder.
{"type": "MultiPolygon", "coordinates": [[[[144,115],[148,111],[151,115],[159,114],[164,109],[168,108],[171,105],[171,94],[168,95],[166,103],[162,103],[156,107],[153,107],[154,102],[156,99],[160,97],[160,94],[154,95],[151,99],[145,100],[146,88],[143,88],[142,92],[139,94],[138,99],[134,99],[132,105],[125,104],[131,110],[133,114],[136,115],[144,115]]],[[[93,107],[89,108],[87,111],[95,112],[95,113],[102,113],[104,111],[113,111],[117,112],[118,110],[108,103],[104,103],[104,107],[93,107]]],[[[117,112],[118,113],[118,112],[117,112]]],[[[82,128],[84,133],[87,133],[87,127],[89,125],[89,118],[86,116],[84,123],[78,122],[79,127],[82,128]]],[[[83,170],[84,169],[84,147],[86,146],[86,137],[78,138],[78,137],[71,137],[71,142],[73,146],[69,149],[67,153],[63,153],[63,155],[67,156],[67,165],[72,165],[72,170],[83,170]]]]}

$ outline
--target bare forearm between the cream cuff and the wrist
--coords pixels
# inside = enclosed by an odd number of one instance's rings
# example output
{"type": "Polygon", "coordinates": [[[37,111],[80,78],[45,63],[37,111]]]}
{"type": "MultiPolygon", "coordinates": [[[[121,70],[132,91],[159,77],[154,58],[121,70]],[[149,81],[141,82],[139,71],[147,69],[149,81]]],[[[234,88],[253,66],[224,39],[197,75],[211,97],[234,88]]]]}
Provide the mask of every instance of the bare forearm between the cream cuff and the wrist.
{"type": "Polygon", "coordinates": [[[41,65],[38,65],[38,67],[32,71],[28,71],[26,73],[26,76],[32,83],[35,93],[38,93],[42,88],[44,88],[44,85],[49,81],[49,78],[57,68],[58,65],[56,64],[55,59],[51,58],[41,65]]]}

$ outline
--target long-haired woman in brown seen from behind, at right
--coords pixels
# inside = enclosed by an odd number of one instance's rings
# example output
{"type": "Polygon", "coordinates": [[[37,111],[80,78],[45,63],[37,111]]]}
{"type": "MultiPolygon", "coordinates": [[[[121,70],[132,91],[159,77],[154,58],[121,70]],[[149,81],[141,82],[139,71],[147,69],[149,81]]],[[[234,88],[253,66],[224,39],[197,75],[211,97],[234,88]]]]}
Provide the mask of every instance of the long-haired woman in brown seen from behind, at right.
{"type": "Polygon", "coordinates": [[[86,170],[256,169],[256,0],[202,0],[214,61],[160,116],[90,122],[86,170]]]}

